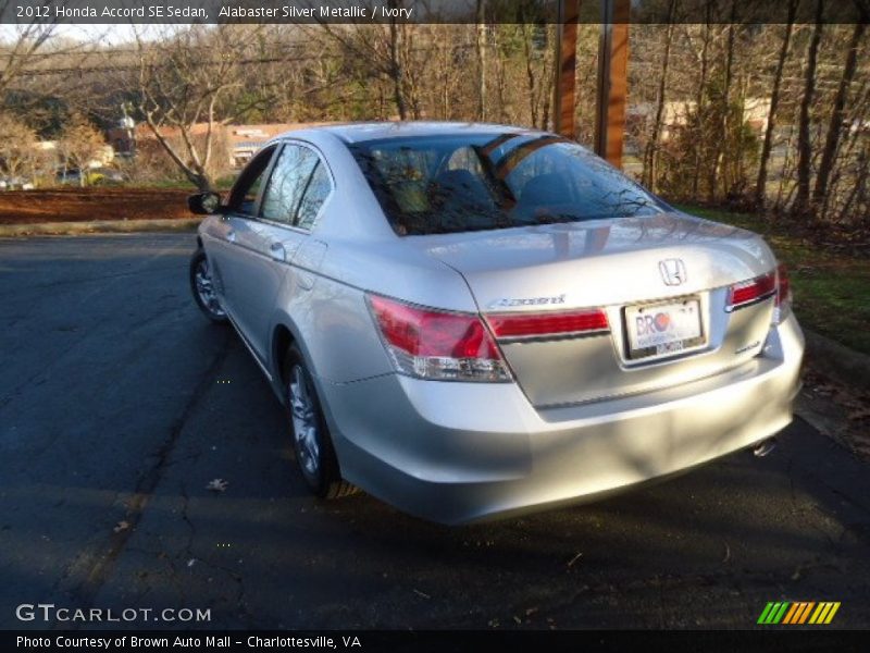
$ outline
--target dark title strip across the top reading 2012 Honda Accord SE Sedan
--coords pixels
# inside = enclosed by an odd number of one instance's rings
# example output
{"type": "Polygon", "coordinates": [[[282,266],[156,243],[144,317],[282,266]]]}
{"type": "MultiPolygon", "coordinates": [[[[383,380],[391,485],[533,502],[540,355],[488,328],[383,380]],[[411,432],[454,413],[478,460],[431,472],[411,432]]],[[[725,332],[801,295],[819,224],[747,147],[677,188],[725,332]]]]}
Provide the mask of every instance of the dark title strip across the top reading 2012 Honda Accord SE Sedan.
{"type": "MultiPolygon", "coordinates": [[[[795,1],[580,0],[579,20],[600,23],[606,2],[624,2],[631,23],[785,23],[795,1]]],[[[821,22],[870,22],[869,0],[801,0],[794,22],[817,22],[820,1],[821,22]]],[[[480,9],[478,0],[0,0],[0,23],[475,23],[480,9]]],[[[558,9],[559,0],[485,0],[482,12],[490,24],[547,24],[558,9]]]]}

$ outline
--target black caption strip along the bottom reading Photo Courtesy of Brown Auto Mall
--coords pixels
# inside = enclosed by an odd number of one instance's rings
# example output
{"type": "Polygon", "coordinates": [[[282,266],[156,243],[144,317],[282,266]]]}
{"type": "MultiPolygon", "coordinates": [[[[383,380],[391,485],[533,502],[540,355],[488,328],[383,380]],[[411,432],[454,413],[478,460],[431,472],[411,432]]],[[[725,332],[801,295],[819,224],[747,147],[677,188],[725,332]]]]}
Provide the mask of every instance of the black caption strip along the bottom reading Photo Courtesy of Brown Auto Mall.
{"type": "Polygon", "coordinates": [[[868,631],[826,627],[769,627],[737,631],[612,631],[612,630],[426,630],[426,631],[3,631],[4,651],[211,651],[366,653],[499,653],[542,651],[858,651],[867,650],[868,631]]]}

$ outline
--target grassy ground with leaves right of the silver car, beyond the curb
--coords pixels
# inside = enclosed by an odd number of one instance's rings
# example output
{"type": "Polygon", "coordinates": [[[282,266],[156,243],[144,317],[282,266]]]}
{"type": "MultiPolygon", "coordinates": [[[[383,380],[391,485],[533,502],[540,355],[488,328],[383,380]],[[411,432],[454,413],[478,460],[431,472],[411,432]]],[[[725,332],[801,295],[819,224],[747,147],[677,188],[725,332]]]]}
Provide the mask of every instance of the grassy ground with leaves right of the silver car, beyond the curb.
{"type": "Polygon", "coordinates": [[[759,215],[693,206],[679,208],[763,235],[776,258],[788,267],[794,309],[800,323],[870,354],[870,259],[813,246],[806,238],[790,234],[787,224],[772,223],[759,215]]]}

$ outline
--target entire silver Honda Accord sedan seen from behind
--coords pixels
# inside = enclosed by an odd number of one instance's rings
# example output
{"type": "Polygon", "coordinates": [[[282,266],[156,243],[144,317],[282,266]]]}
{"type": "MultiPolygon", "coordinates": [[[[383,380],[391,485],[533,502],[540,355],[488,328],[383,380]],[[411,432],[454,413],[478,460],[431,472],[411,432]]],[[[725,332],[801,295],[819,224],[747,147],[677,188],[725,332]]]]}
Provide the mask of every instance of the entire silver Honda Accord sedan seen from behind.
{"type": "Polygon", "coordinates": [[[196,301],[286,406],[319,496],[458,523],[757,447],[792,420],[788,280],[575,143],[500,125],[284,134],[211,213],[196,301]]]}

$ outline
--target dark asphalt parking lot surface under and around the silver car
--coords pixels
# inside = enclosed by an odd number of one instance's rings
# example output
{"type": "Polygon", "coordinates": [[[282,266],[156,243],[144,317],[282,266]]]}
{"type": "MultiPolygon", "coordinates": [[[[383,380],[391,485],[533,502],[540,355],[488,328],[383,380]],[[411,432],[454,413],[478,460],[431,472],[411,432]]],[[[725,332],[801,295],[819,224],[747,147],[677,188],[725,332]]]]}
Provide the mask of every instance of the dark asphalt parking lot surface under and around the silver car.
{"type": "Polygon", "coordinates": [[[45,628],[15,607],[54,603],[217,628],[742,628],[778,600],[870,626],[868,468],[799,420],[768,458],[489,525],[312,500],[254,362],[189,298],[192,247],[0,241],[0,627],[45,628]]]}

